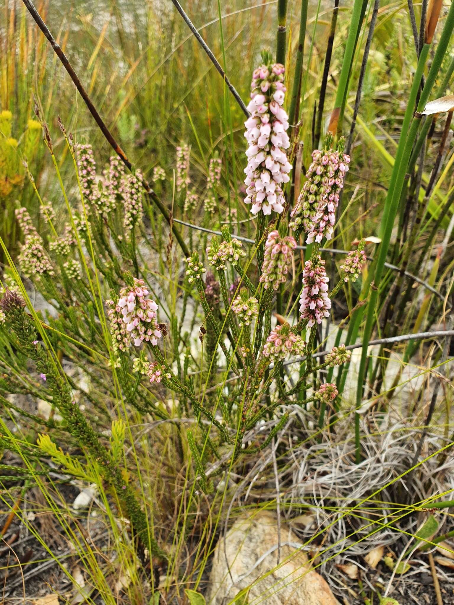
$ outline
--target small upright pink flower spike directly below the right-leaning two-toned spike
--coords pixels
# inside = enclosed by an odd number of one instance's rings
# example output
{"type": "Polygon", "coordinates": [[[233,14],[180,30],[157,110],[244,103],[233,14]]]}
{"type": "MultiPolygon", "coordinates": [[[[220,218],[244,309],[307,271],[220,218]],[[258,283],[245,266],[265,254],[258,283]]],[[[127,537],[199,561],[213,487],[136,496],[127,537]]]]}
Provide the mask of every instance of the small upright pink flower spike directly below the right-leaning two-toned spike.
{"type": "Polygon", "coordinates": [[[329,317],[331,300],[328,298],[328,282],[324,260],[319,255],[306,261],[303,270],[303,291],[300,296],[300,318],[308,319],[308,326],[321,324],[329,317]]]}

